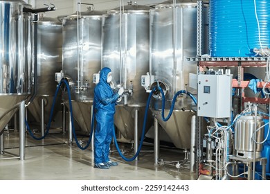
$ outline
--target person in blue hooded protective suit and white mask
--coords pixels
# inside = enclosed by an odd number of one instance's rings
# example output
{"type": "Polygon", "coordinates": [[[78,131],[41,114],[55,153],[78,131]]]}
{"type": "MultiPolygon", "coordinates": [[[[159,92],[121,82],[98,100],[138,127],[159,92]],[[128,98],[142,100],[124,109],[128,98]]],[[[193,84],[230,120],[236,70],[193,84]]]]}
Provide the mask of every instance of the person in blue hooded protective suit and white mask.
{"type": "Polygon", "coordinates": [[[94,89],[94,102],[96,110],[96,130],[94,135],[95,168],[108,169],[110,166],[118,166],[117,162],[109,160],[109,145],[114,132],[115,105],[124,89],[121,87],[114,94],[109,82],[111,82],[111,69],[105,67],[100,71],[100,82],[94,89]]]}

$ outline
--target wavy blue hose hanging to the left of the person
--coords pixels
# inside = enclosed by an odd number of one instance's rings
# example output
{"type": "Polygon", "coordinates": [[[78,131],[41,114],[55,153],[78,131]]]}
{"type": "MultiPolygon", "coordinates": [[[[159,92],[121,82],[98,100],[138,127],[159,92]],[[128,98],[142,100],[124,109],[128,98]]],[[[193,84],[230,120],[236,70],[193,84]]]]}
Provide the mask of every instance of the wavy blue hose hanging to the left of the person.
{"type": "Polygon", "coordinates": [[[67,92],[68,92],[68,96],[69,96],[69,109],[70,109],[70,112],[71,112],[71,125],[72,125],[72,132],[73,132],[73,136],[74,136],[74,139],[75,139],[75,142],[76,144],[78,145],[78,147],[81,149],[81,150],[85,150],[89,147],[90,145],[90,142],[91,142],[91,138],[92,138],[92,135],[93,135],[93,118],[94,118],[94,112],[93,112],[93,115],[92,115],[92,122],[91,122],[91,133],[90,133],[90,136],[89,136],[89,140],[87,142],[87,145],[85,145],[84,147],[82,147],[80,145],[80,143],[78,142],[78,139],[77,139],[77,136],[75,134],[75,127],[74,127],[74,123],[73,123],[73,109],[72,109],[72,104],[71,104],[71,91],[69,89],[69,83],[66,82],[66,80],[61,80],[61,82],[59,83],[59,85],[57,86],[57,89],[55,91],[55,96],[53,98],[53,105],[52,105],[52,108],[51,108],[51,114],[50,114],[50,118],[49,118],[49,121],[48,121],[48,125],[47,125],[47,128],[46,128],[46,132],[44,134],[44,136],[41,136],[41,137],[36,137],[34,136],[33,132],[30,130],[30,127],[26,121],[26,127],[27,127],[27,130],[28,132],[30,133],[30,136],[33,137],[33,139],[36,139],[36,140],[41,140],[41,139],[44,139],[45,136],[48,134],[48,130],[50,129],[51,127],[51,121],[52,121],[52,118],[53,118],[53,110],[54,110],[54,107],[55,107],[55,101],[56,101],[56,96],[58,94],[58,91],[60,89],[60,86],[62,84],[62,82],[64,82],[65,86],[66,86],[66,89],[67,89],[67,92]]]}

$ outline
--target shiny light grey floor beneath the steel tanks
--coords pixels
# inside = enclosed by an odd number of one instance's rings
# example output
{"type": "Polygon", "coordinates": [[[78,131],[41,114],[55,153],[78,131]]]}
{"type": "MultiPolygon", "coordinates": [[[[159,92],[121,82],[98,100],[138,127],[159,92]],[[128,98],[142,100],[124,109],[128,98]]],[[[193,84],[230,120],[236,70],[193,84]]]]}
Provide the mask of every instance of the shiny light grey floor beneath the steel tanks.
{"type": "MultiPolygon", "coordinates": [[[[4,147],[6,152],[19,155],[18,132],[4,132],[4,147]]],[[[38,134],[37,134],[38,135],[38,134]]],[[[82,137],[78,136],[78,139],[82,137]]],[[[87,141],[87,137],[82,139],[87,141]]],[[[26,134],[25,160],[6,159],[11,157],[4,152],[0,155],[1,180],[176,180],[195,179],[190,173],[189,164],[176,168],[172,165],[154,166],[154,152],[150,143],[143,145],[138,161],[123,160],[114,146],[111,147],[111,160],[118,161],[117,167],[108,170],[93,168],[93,152],[91,148],[80,150],[74,143],[68,145],[67,134],[51,133],[46,139],[37,141],[26,134]]],[[[126,157],[132,157],[130,143],[119,143],[126,157]]],[[[161,159],[176,161],[183,159],[182,150],[161,148],[161,159]]]]}

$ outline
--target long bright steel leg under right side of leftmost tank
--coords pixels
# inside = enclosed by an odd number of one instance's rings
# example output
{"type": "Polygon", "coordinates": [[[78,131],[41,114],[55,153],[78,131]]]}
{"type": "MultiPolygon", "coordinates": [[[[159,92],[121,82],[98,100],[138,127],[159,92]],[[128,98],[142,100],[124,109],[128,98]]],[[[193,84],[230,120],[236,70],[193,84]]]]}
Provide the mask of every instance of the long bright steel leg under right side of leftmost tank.
{"type": "Polygon", "coordinates": [[[24,160],[25,130],[26,130],[25,100],[19,105],[19,159],[24,160]]]}

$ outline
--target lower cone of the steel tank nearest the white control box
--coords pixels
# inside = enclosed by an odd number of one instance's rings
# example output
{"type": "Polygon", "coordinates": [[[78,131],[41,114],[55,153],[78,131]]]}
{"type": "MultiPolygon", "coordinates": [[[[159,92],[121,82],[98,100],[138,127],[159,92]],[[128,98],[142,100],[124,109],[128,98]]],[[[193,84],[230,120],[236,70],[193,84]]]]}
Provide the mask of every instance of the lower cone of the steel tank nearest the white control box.
{"type": "MultiPolygon", "coordinates": [[[[152,111],[156,114],[161,127],[163,127],[168,136],[170,136],[170,139],[172,139],[172,143],[177,148],[190,149],[191,118],[196,113],[174,109],[170,119],[164,122],[159,111],[152,111]]],[[[165,110],[165,116],[168,115],[168,112],[169,110],[165,110]]]]}

